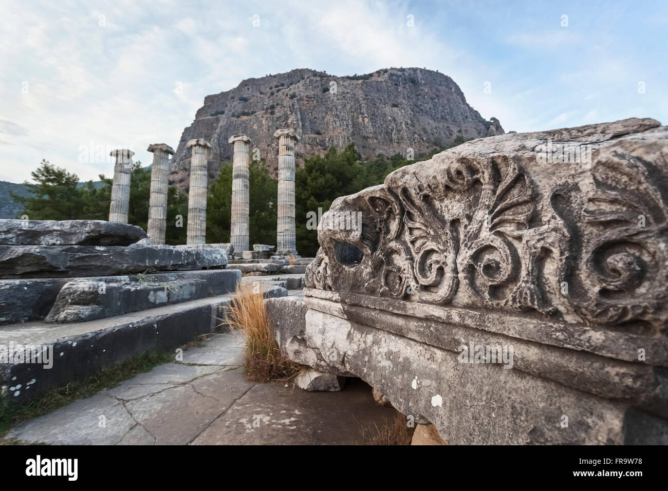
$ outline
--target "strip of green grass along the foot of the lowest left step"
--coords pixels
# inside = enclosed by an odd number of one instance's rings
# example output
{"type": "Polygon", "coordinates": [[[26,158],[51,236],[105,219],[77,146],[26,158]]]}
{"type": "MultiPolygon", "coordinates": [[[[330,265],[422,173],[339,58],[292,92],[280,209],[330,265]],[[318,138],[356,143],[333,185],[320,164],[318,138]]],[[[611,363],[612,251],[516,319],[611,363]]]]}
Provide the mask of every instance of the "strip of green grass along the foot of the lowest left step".
{"type": "Polygon", "coordinates": [[[0,406],[0,438],[3,438],[10,428],[21,422],[48,414],[78,399],[91,397],[104,389],[112,389],[139,373],[145,373],[158,365],[174,361],[174,351],[147,351],[126,361],[104,367],[88,379],[72,381],[63,387],[53,389],[37,401],[20,405],[2,405],[0,406]]]}

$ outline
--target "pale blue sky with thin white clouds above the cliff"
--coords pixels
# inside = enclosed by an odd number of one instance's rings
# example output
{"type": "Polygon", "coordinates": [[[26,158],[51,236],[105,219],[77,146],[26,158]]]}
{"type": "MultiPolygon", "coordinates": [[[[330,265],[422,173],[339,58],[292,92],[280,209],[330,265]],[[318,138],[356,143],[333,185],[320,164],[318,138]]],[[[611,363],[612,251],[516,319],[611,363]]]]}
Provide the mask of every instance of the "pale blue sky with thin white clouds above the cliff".
{"type": "Polygon", "coordinates": [[[667,33],[665,0],[3,0],[0,180],[112,176],[109,148],[149,164],[204,96],[295,68],[438,70],[506,132],[668,124],[667,33]]]}

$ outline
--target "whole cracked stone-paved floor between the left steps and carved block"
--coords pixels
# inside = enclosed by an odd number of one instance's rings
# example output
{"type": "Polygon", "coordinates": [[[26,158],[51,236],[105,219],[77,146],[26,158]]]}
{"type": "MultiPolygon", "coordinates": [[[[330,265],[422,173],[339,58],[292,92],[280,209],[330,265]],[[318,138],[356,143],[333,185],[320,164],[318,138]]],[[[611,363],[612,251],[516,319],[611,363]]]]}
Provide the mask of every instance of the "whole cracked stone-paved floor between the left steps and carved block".
{"type": "Polygon", "coordinates": [[[355,445],[391,421],[370,387],[350,381],[335,393],[245,380],[243,346],[232,333],[204,347],[29,420],[5,440],[49,445],[355,445]],[[188,410],[184,410],[188,408],[188,410]],[[100,416],[105,417],[104,428],[100,416]]]}

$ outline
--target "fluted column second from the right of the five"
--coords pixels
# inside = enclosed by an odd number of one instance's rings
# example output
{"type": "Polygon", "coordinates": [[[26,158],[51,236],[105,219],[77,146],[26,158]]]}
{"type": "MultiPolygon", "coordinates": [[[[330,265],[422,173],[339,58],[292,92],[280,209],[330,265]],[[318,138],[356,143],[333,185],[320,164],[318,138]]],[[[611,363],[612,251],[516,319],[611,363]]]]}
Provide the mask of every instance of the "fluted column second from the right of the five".
{"type": "Polygon", "coordinates": [[[251,138],[246,135],[230,136],[228,143],[234,144],[232,157],[232,226],[230,242],[234,256],[248,251],[250,231],[250,201],[248,194],[248,166],[251,165],[251,138]]]}

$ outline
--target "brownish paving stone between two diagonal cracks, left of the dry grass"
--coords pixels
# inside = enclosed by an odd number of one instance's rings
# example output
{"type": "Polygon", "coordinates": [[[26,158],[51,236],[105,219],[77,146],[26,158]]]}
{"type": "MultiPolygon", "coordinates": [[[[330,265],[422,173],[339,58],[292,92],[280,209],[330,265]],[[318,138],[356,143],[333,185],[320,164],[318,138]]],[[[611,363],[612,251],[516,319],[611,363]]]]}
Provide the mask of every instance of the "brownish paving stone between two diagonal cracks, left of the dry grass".
{"type": "Polygon", "coordinates": [[[126,403],[126,408],[158,445],[191,442],[253,383],[243,370],[220,371],[196,381],[126,403]]]}

